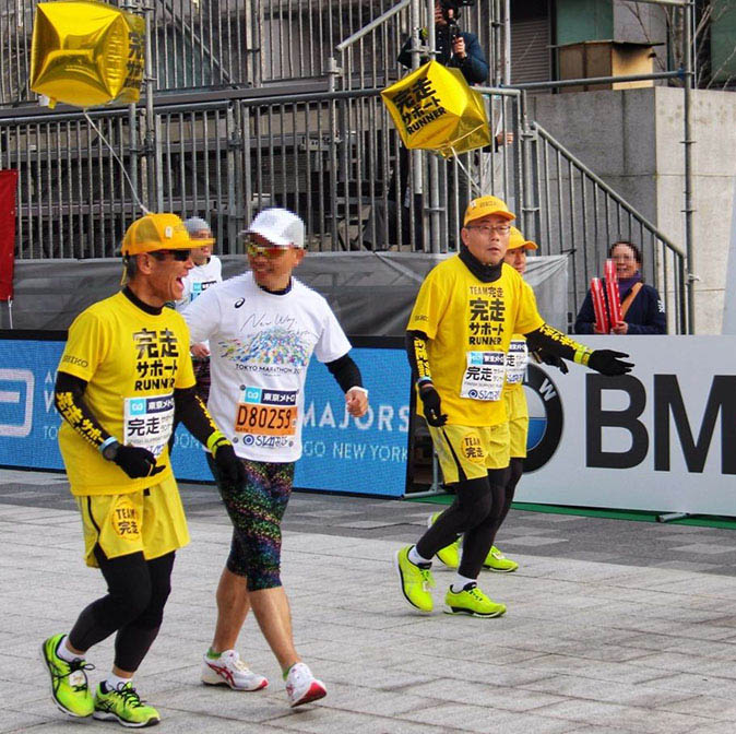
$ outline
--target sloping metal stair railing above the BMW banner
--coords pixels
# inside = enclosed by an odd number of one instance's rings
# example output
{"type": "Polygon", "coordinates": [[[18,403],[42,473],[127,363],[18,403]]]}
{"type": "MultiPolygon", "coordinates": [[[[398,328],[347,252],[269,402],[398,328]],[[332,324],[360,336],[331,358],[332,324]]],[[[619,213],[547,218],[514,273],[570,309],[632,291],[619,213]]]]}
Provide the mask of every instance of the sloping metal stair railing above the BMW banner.
{"type": "Polygon", "coordinates": [[[590,279],[601,276],[612,244],[627,240],[642,253],[642,275],[664,299],[669,333],[687,333],[686,254],[542,126],[525,131],[527,198],[524,234],[542,254],[570,259],[571,317],[590,279]]]}

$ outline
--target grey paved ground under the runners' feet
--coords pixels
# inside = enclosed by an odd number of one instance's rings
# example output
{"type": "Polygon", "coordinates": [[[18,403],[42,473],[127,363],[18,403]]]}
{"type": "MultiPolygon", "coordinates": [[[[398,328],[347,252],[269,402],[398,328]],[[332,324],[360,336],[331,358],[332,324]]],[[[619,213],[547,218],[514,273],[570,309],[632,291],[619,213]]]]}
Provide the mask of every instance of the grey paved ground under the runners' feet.
{"type": "MultiPolygon", "coordinates": [[[[733,531],[512,511],[499,545],[522,567],[482,577],[506,617],[422,616],[404,605],[392,557],[432,507],[298,494],[284,523],[284,578],[298,648],[330,692],[292,711],[251,619],[239,648],[270,687],[198,683],[229,526],[213,488],[186,485],[182,495],[192,543],[136,677],[164,715],[157,731],[734,731],[733,531]]],[[[122,731],[66,720],[37,656],[41,639],[104,590],[81,560],[62,475],[0,470],[0,732],[122,731]]],[[[441,607],[451,572],[435,576],[441,607]]],[[[92,680],[107,672],[110,649],[90,654],[92,680]]]]}

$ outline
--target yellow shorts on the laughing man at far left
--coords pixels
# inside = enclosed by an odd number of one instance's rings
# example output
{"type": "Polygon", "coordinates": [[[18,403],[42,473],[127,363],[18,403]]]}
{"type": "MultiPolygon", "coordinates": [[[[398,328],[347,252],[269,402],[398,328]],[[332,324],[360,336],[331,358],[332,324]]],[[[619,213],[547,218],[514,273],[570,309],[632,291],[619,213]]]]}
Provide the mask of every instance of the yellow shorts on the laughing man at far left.
{"type": "Polygon", "coordinates": [[[126,495],[76,497],[84,529],[84,560],[97,568],[96,544],[108,558],[143,553],[158,558],[189,543],[176,480],[170,476],[147,489],[126,495]]]}

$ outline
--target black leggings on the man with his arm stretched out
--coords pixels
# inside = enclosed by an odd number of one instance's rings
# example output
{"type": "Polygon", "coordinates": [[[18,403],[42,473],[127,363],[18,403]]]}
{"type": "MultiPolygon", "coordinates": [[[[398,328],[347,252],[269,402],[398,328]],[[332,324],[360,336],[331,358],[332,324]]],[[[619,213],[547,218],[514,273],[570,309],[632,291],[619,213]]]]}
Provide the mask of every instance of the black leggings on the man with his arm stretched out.
{"type": "Polygon", "coordinates": [[[431,558],[464,534],[458,570],[461,576],[477,579],[503,519],[509,473],[508,467],[491,469],[482,478],[458,482],[454,502],[419,538],[417,553],[423,558],[431,558]]]}

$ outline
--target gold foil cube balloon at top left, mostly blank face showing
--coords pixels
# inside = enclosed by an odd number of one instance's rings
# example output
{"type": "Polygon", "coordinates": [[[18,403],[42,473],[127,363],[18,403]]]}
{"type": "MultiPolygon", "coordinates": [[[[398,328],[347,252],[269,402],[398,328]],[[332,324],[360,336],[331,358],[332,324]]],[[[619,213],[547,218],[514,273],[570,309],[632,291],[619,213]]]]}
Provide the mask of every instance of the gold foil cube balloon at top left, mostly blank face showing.
{"type": "Polygon", "coordinates": [[[103,2],[40,2],[31,45],[31,88],[54,107],[138,102],[145,21],[103,2]]]}

